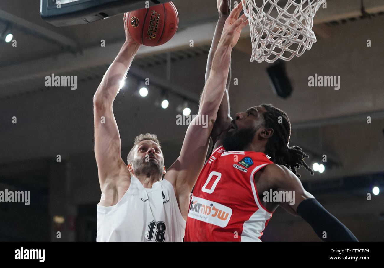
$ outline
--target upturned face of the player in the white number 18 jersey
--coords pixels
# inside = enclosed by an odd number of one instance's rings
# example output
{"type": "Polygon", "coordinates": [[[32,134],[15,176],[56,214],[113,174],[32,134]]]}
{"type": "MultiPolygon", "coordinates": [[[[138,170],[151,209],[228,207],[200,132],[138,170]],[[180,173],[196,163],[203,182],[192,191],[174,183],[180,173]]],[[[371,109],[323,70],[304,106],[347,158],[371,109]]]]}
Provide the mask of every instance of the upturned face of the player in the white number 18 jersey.
{"type": "Polygon", "coordinates": [[[135,175],[161,175],[164,169],[164,156],[160,146],[150,140],[141,141],[136,145],[132,160],[135,175]]]}

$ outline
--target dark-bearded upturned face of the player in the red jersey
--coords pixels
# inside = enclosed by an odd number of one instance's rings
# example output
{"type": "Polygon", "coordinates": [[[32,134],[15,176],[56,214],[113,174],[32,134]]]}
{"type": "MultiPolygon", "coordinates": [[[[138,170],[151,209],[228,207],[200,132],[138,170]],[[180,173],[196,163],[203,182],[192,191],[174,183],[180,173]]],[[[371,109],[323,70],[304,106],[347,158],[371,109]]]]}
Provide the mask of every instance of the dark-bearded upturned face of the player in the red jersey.
{"type": "Polygon", "coordinates": [[[223,146],[227,151],[246,151],[255,136],[263,129],[266,112],[262,106],[255,106],[237,113],[225,134],[223,146]]]}

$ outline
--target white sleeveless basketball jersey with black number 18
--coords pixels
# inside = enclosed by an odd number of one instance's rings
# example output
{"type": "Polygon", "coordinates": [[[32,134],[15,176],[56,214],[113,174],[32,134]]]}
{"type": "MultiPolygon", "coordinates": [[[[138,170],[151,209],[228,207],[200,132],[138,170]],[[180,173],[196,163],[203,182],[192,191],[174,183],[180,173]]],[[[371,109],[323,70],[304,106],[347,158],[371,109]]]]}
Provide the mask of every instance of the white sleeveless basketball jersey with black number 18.
{"type": "Polygon", "coordinates": [[[127,192],[116,205],[97,207],[96,241],[182,242],[184,232],[185,220],[167,180],[149,189],[131,176],[127,192]]]}

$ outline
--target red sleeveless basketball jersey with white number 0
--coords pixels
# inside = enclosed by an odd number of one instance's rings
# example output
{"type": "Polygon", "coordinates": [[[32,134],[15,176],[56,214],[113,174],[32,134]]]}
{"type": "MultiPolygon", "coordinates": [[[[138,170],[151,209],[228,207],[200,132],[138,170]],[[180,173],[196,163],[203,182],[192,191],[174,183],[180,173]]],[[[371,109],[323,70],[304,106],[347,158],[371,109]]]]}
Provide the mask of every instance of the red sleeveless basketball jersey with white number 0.
{"type": "Polygon", "coordinates": [[[215,149],[195,184],[184,241],[260,241],[272,212],[261,205],[253,176],[268,164],[262,152],[215,149]]]}

